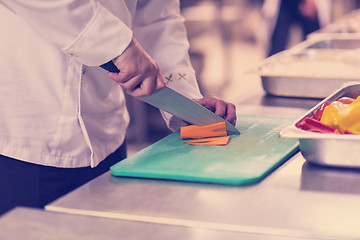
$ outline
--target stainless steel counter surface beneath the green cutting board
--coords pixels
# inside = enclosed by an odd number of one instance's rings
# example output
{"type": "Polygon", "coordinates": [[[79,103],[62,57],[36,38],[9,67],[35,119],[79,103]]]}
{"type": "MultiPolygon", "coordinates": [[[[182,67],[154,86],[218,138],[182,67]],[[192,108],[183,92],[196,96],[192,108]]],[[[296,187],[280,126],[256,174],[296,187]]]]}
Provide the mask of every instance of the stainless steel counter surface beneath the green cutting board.
{"type": "MultiPolygon", "coordinates": [[[[239,101],[238,112],[301,116],[318,101],[256,93],[239,101]],[[255,105],[245,105],[250,102],[255,105]]],[[[107,172],[46,209],[266,236],[360,239],[358,186],[359,170],[311,165],[298,153],[247,187],[119,178],[107,172]]]]}

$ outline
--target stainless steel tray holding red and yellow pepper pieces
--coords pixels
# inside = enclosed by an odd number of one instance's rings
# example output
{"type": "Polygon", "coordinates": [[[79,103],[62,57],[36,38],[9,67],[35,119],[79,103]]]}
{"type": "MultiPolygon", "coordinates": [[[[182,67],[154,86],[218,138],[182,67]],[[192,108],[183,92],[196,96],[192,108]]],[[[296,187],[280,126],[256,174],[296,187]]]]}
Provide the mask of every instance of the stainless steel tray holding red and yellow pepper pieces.
{"type": "Polygon", "coordinates": [[[325,98],[303,117],[280,131],[280,137],[299,139],[299,148],[304,158],[312,163],[360,168],[360,135],[324,134],[301,130],[296,124],[305,117],[312,117],[324,102],[333,102],[342,97],[355,98],[360,95],[360,82],[349,82],[325,98]]]}

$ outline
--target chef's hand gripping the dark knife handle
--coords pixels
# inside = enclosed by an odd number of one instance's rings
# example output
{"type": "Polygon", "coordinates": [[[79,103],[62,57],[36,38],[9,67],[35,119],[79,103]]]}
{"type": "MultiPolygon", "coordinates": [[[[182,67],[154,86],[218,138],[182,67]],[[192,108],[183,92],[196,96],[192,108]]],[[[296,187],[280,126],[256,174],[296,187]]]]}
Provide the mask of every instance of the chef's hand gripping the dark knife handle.
{"type": "Polygon", "coordinates": [[[149,96],[165,87],[159,66],[135,38],[112,61],[120,72],[110,72],[109,76],[134,97],[149,96]]]}

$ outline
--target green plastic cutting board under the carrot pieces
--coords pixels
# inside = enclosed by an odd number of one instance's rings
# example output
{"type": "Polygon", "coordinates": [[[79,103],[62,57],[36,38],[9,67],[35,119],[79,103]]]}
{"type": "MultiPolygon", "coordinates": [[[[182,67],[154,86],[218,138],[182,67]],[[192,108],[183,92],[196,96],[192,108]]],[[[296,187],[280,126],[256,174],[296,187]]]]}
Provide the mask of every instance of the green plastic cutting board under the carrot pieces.
{"type": "Polygon", "coordinates": [[[238,115],[226,146],[194,146],[174,132],[110,168],[114,176],[247,185],[257,183],[298,151],[298,140],[279,137],[294,118],[238,115]]]}

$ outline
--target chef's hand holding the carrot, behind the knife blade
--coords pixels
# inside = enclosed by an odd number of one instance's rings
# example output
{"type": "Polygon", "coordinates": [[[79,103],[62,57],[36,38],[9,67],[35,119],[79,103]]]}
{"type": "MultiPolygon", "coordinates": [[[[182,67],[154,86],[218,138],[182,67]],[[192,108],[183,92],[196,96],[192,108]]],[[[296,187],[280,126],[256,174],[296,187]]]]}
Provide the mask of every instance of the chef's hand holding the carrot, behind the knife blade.
{"type": "Polygon", "coordinates": [[[208,95],[204,98],[193,100],[235,126],[236,107],[234,104],[225,102],[214,95],[208,95]]]}

